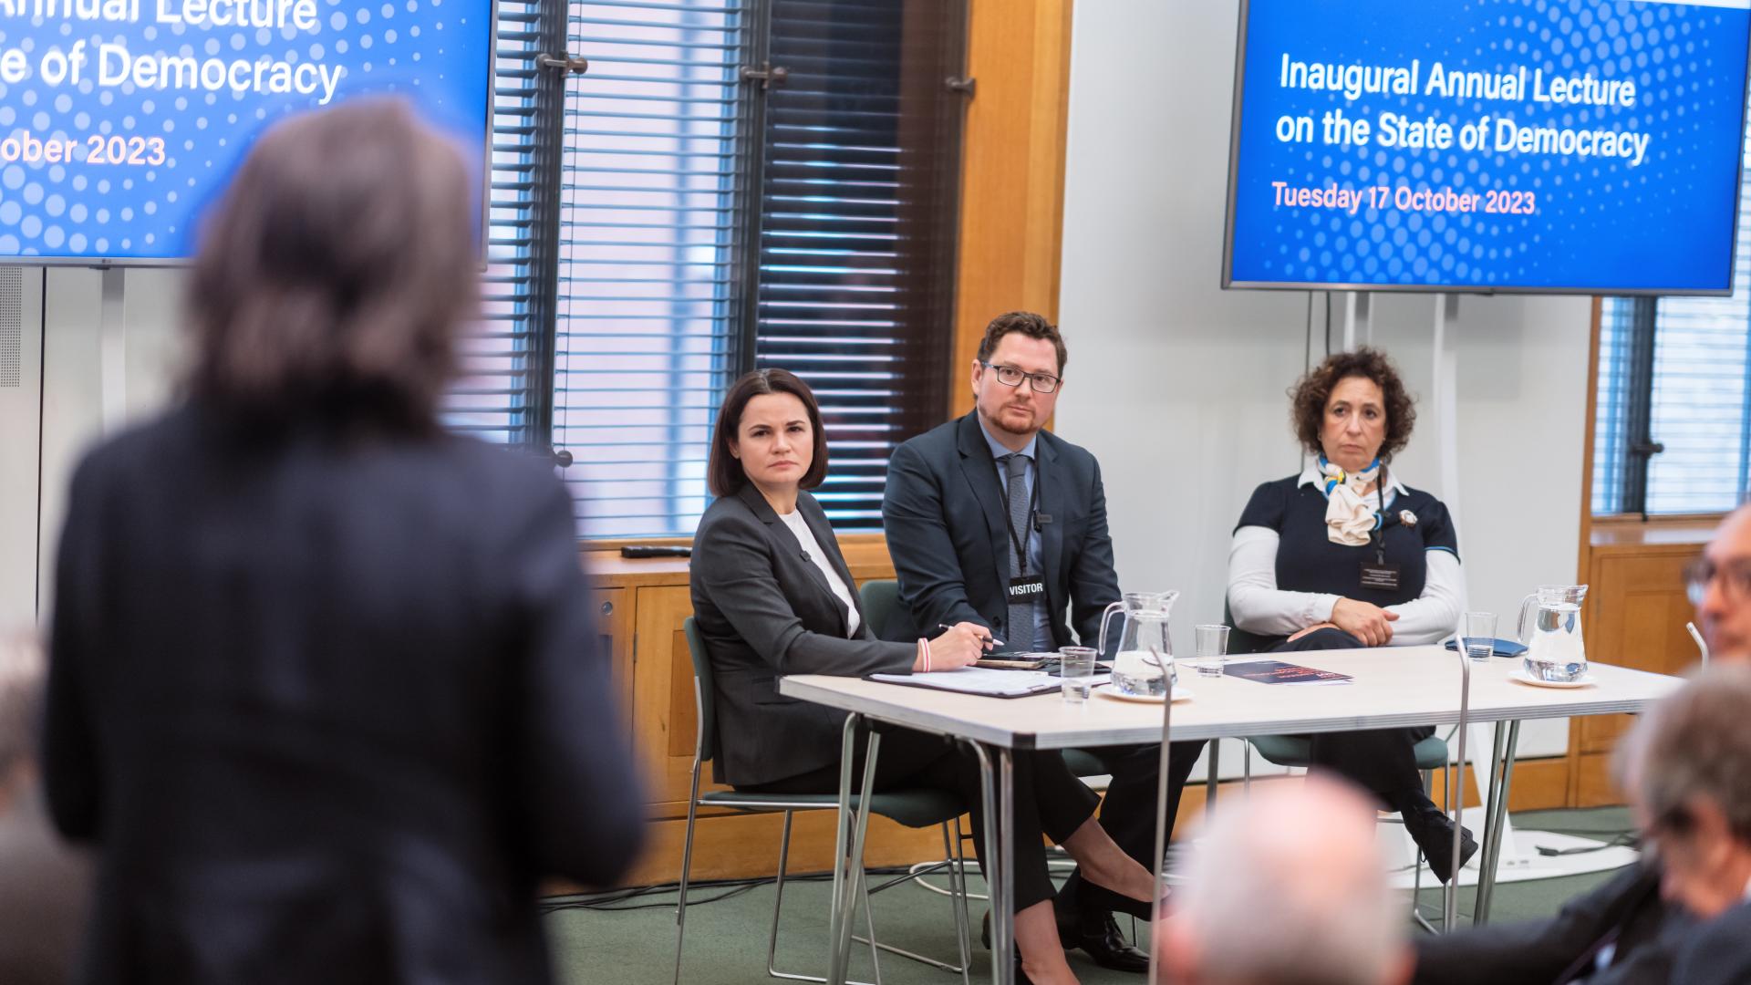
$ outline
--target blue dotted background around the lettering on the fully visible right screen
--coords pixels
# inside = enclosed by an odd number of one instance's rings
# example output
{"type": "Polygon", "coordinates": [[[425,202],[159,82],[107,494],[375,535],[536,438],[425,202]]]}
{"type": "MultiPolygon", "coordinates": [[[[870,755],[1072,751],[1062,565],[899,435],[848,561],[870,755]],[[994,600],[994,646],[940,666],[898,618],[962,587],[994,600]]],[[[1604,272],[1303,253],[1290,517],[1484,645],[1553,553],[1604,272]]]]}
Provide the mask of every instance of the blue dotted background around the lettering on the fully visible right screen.
{"type": "MultiPolygon", "coordinates": [[[[1259,284],[1460,286],[1480,289],[1725,291],[1742,154],[1751,12],[1599,0],[1252,0],[1236,142],[1231,280],[1259,284]],[[1418,95],[1278,86],[1297,61],[1422,63],[1418,95]],[[1422,96],[1429,67],[1529,77],[1634,79],[1630,107],[1422,96]],[[1341,107],[1478,116],[1522,126],[1651,133],[1648,159],[1382,149],[1276,140],[1283,114],[1341,107]],[[1273,202],[1273,181],[1308,188],[1410,186],[1455,193],[1534,191],[1537,214],[1369,209],[1355,216],[1273,202]]],[[[1494,138],[1494,124],[1490,128],[1494,138]]]]}

